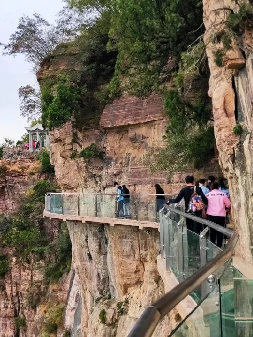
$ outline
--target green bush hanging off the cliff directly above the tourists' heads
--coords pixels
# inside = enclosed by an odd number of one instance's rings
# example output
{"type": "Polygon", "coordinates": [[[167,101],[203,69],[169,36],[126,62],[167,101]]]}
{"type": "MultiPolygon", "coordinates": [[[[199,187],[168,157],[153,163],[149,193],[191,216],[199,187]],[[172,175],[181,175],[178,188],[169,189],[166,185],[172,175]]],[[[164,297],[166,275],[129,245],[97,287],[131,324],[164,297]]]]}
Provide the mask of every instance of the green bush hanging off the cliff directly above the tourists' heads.
{"type": "Polygon", "coordinates": [[[211,106],[207,96],[199,94],[194,104],[182,99],[178,91],[164,96],[164,111],[168,117],[165,146],[152,148],[146,161],[152,172],[167,171],[169,175],[189,166],[201,168],[213,156],[213,127],[209,125],[211,106]]]}

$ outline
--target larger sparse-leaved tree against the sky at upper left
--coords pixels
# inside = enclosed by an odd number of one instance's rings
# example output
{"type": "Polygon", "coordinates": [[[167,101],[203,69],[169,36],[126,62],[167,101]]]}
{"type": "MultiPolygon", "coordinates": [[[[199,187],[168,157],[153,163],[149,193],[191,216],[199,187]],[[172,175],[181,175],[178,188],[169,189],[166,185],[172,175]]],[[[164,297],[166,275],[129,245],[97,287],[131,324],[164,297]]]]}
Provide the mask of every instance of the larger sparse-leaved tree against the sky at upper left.
{"type": "Polygon", "coordinates": [[[28,62],[38,67],[62,39],[62,34],[55,26],[35,13],[32,17],[20,17],[16,31],[3,46],[5,54],[24,54],[28,62]]]}

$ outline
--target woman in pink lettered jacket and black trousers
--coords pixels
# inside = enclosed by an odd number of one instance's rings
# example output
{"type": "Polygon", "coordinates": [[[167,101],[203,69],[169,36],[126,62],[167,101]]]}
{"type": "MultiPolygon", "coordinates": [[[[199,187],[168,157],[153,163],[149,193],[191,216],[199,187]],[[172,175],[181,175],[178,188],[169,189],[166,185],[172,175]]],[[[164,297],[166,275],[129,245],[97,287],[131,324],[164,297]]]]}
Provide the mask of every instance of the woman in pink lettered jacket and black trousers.
{"type": "MultiPolygon", "coordinates": [[[[207,219],[217,225],[225,227],[226,224],[226,209],[231,207],[231,202],[226,194],[219,191],[218,183],[211,183],[211,191],[207,193],[208,206],[206,210],[207,219]]],[[[210,228],[210,241],[217,247],[221,247],[223,234],[210,228]],[[217,243],[216,243],[217,240],[217,243]]]]}

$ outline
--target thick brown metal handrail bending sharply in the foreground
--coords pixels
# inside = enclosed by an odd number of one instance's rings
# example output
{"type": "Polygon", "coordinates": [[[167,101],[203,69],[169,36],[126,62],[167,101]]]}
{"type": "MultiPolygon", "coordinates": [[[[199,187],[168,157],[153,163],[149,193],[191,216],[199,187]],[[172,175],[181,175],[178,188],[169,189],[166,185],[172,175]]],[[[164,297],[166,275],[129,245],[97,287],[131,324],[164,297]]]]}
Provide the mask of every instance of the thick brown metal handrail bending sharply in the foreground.
{"type": "Polygon", "coordinates": [[[227,228],[214,224],[211,221],[195,217],[177,209],[174,209],[166,204],[163,205],[167,211],[174,212],[185,218],[192,219],[200,224],[207,225],[218,232],[226,235],[230,240],[226,244],[224,250],[220,252],[214,259],[206,265],[198,269],[193,275],[178,284],[171,291],[163,295],[155,303],[147,307],[140,316],[128,337],[150,337],[152,336],[158,322],[167,315],[175,306],[178,305],[187,295],[189,295],[197,286],[200,286],[207,277],[223,265],[232,255],[234,247],[238,241],[239,235],[227,228]]]}

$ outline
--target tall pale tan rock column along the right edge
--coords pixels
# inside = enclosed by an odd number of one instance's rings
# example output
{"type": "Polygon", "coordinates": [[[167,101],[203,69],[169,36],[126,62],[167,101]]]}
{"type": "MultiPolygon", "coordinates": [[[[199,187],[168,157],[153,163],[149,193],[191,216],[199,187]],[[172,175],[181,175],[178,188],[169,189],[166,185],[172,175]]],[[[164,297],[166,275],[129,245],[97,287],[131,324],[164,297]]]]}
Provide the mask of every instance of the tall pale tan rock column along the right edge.
{"type": "Polygon", "coordinates": [[[219,163],[229,182],[233,218],[238,231],[237,254],[252,264],[253,247],[253,53],[252,30],[233,40],[224,66],[214,62],[217,46],[210,37],[222,30],[230,9],[238,10],[235,1],[203,0],[205,42],[210,68],[209,95],[212,98],[216,146],[219,163]],[[238,66],[239,64],[239,66],[238,66]],[[243,66],[244,65],[244,66],[243,66]],[[241,135],[233,133],[240,123],[241,135]]]}

